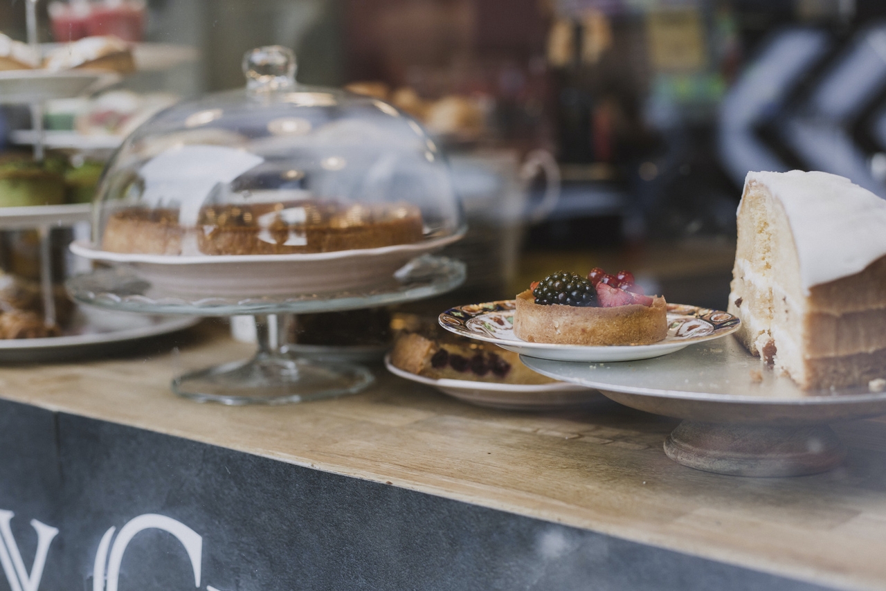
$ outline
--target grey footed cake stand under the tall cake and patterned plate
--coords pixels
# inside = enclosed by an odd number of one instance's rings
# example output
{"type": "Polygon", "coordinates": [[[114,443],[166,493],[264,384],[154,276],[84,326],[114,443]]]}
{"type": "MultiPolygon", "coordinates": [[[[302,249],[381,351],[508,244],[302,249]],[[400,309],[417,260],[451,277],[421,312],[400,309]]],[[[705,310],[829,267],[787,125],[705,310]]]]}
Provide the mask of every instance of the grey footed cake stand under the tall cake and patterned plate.
{"type": "Polygon", "coordinates": [[[638,362],[556,362],[521,355],[548,377],[682,422],[665,439],[675,462],[735,476],[798,476],[834,468],[845,448],[829,423],[886,414],[867,385],[804,392],[732,337],[638,362]]]}

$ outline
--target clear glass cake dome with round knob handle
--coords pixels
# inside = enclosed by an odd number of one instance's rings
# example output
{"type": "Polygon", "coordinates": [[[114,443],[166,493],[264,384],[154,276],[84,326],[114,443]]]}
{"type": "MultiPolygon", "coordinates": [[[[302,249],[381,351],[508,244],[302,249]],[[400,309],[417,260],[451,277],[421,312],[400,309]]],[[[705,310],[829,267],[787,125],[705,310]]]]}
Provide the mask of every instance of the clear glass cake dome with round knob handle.
{"type": "Polygon", "coordinates": [[[447,161],[392,105],[295,82],[284,47],[245,89],[183,102],[128,136],[99,185],[93,248],[134,255],[330,253],[463,233],[447,161]]]}

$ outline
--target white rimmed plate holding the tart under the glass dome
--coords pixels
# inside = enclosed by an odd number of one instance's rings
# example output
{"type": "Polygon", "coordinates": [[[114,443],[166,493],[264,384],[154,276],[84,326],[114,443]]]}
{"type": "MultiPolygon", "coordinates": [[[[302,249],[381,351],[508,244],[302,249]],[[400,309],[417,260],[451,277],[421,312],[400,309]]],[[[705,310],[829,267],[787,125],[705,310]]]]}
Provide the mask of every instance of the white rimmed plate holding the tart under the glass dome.
{"type": "Polygon", "coordinates": [[[438,251],[461,234],[409,245],[307,254],[169,256],[108,253],[78,240],[71,252],[91,261],[126,264],[158,290],[188,295],[251,297],[344,292],[392,277],[408,261],[438,251]]]}

